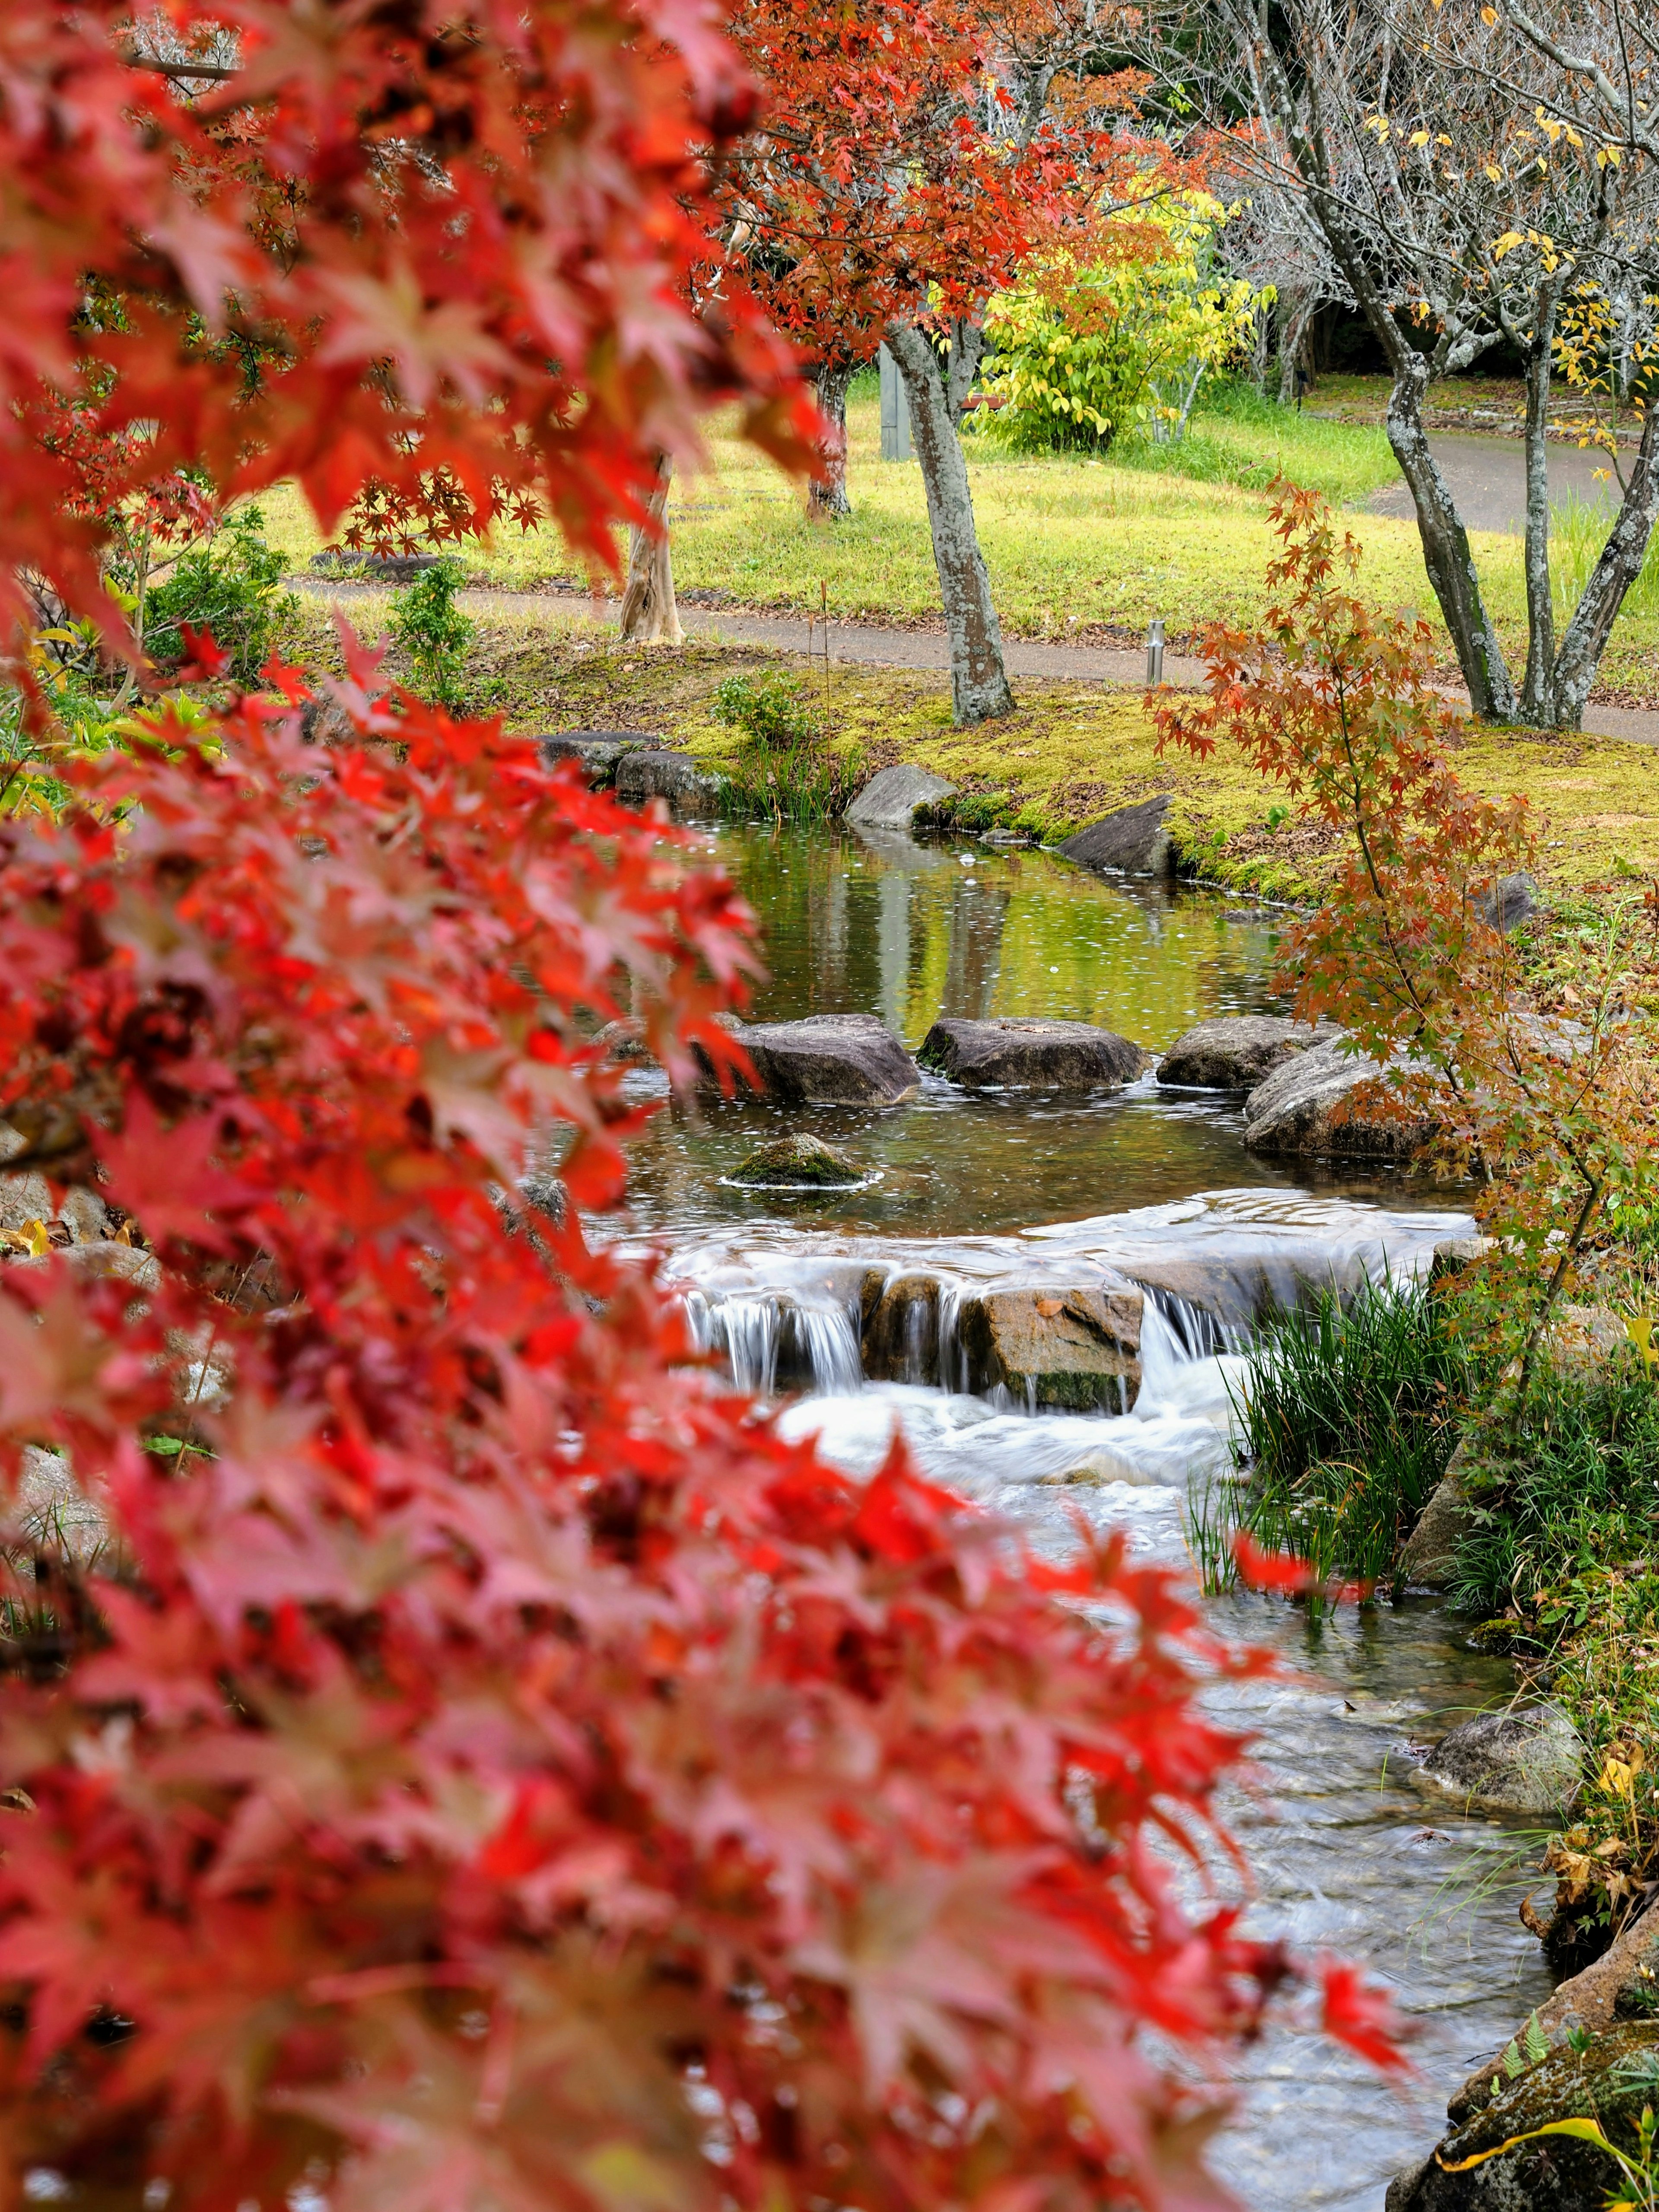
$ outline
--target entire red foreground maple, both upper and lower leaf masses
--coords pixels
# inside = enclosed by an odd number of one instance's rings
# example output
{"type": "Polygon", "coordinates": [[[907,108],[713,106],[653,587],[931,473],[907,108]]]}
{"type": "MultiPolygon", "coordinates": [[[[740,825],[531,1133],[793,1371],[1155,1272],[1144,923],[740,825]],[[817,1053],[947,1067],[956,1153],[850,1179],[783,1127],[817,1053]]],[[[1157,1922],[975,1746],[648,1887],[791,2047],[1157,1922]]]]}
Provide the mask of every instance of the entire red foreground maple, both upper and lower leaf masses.
{"type": "MultiPolygon", "coordinates": [[[[684,305],[750,100],[688,0],[135,38],[0,24],[0,573],[97,573],[35,403],[219,498],[445,469],[586,544],[723,394],[792,420],[765,327],[684,305]],[[276,367],[232,392],[239,332],[276,367]]],[[[595,1026],[734,1060],[719,869],[349,639],[325,712],[192,653],[0,818],[7,2194],[1219,2201],[1214,2077],[1294,1962],[1170,1849],[1221,1840],[1199,1692],[1256,1661],[1119,1542],[1037,1566],[900,1449],[785,1444],[588,1245],[648,1113],[595,1026]]],[[[1391,2062],[1352,1971],[1325,2017],[1391,2062]]]]}

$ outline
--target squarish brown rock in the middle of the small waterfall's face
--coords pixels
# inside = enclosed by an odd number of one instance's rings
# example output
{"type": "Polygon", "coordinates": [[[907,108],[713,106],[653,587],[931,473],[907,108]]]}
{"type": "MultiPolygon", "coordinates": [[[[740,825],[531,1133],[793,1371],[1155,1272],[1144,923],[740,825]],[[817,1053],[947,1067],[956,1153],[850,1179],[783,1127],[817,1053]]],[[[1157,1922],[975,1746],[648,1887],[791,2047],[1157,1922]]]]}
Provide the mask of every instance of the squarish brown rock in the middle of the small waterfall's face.
{"type": "Polygon", "coordinates": [[[958,1338],[971,1391],[1071,1413],[1128,1413],[1141,1389],[1139,1290],[987,1290],[964,1298],[958,1338]]]}

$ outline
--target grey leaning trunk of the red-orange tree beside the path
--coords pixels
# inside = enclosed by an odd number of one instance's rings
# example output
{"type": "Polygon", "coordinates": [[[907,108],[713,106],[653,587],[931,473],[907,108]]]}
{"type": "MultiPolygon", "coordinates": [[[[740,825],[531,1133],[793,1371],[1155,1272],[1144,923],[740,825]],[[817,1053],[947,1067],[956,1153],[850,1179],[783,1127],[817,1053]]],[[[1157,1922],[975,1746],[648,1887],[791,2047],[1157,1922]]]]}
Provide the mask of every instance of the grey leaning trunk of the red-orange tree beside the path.
{"type": "Polygon", "coordinates": [[[991,606],[980,538],[973,529],[973,495],[958,422],[980,365],[984,336],[971,323],[951,323],[949,387],[938,356],[914,323],[887,325],[887,349],[905,378],[909,434],[922,465],[927,520],[933,529],[933,564],[945,604],[945,635],[951,641],[951,701],[958,723],[989,721],[1013,712],[1013,692],[1002,666],[1002,630],[991,606]]]}

